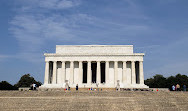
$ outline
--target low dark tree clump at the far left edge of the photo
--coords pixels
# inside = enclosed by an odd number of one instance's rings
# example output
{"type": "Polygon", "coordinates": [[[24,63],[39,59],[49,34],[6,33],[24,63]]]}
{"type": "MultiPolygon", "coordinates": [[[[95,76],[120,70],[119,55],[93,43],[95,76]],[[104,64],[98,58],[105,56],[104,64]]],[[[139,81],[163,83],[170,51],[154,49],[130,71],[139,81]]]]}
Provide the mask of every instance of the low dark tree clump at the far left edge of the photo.
{"type": "Polygon", "coordinates": [[[12,86],[7,81],[1,81],[0,82],[0,90],[16,90],[17,88],[12,86]]]}

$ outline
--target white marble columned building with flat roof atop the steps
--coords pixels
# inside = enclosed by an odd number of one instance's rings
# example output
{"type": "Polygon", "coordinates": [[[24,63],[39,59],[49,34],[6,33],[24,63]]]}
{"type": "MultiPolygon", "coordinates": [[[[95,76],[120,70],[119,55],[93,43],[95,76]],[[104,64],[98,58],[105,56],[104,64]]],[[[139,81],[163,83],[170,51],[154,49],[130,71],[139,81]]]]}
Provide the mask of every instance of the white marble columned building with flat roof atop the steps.
{"type": "Polygon", "coordinates": [[[148,88],[144,85],[144,53],[132,45],[57,45],[45,53],[45,78],[41,88],[148,88]]]}

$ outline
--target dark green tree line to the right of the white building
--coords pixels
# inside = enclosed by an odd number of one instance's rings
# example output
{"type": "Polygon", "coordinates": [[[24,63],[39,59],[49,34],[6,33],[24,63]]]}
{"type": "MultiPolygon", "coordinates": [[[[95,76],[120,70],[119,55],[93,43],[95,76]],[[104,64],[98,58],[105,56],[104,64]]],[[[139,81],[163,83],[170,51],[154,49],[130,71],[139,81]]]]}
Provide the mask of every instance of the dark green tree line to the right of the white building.
{"type": "Polygon", "coordinates": [[[179,84],[182,89],[183,85],[188,87],[188,76],[177,74],[165,78],[163,75],[156,74],[152,78],[146,79],[144,83],[150,88],[169,88],[170,90],[172,85],[179,84]]]}

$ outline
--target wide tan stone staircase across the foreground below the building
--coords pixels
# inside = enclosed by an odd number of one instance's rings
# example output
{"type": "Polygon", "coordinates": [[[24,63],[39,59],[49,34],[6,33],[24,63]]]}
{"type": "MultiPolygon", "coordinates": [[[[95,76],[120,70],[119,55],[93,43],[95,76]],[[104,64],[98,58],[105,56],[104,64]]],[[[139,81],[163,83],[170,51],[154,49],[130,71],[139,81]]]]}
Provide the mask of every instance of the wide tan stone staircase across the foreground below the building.
{"type": "Polygon", "coordinates": [[[188,92],[0,91],[0,111],[188,111],[188,92]]]}

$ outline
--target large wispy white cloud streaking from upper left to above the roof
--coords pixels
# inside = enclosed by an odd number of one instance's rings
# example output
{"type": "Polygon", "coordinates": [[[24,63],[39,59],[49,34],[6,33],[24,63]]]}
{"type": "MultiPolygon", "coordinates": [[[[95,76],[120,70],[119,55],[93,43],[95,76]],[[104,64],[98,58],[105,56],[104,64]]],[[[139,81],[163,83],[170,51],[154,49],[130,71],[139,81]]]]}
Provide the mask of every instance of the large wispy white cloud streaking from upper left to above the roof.
{"type": "Polygon", "coordinates": [[[143,24],[121,24],[78,12],[64,14],[64,9],[80,5],[80,0],[21,1],[21,8],[10,22],[9,30],[21,48],[17,56],[25,60],[29,58],[24,56],[32,56],[33,61],[41,59],[41,54],[37,53],[50,43],[104,44],[101,39],[110,39],[109,35],[126,32],[126,35],[135,36],[151,29],[143,24]]]}

